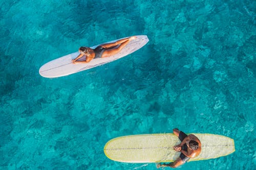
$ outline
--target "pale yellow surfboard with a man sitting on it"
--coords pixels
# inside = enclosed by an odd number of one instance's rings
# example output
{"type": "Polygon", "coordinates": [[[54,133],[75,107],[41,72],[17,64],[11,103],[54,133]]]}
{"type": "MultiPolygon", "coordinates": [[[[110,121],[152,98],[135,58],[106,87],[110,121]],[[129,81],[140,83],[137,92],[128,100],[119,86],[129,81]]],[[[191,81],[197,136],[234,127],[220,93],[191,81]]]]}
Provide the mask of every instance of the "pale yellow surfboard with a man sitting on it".
{"type": "MultiPolygon", "coordinates": [[[[198,161],[226,156],[235,151],[233,139],[215,134],[196,135],[202,144],[199,156],[189,159],[198,161]]],[[[173,146],[181,141],[173,133],[122,136],[105,144],[104,153],[112,160],[131,163],[173,162],[180,152],[173,146]]]]}

